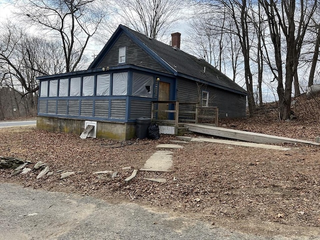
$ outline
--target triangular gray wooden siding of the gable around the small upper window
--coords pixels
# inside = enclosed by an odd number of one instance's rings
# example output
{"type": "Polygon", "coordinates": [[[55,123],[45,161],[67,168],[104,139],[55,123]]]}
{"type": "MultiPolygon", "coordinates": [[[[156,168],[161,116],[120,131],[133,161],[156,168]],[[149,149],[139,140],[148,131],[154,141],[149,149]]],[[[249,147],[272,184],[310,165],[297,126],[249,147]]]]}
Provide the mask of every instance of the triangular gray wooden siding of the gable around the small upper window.
{"type": "MultiPolygon", "coordinates": [[[[125,33],[122,33],[117,41],[113,44],[109,52],[104,56],[103,60],[97,67],[117,66],[119,57],[119,47],[126,47],[125,63],[134,64],[158,70],[162,72],[168,72],[158,62],[156,62],[149,54],[142,50],[137,44],[135,44],[125,33]]],[[[123,64],[123,63],[122,63],[123,64]]]]}

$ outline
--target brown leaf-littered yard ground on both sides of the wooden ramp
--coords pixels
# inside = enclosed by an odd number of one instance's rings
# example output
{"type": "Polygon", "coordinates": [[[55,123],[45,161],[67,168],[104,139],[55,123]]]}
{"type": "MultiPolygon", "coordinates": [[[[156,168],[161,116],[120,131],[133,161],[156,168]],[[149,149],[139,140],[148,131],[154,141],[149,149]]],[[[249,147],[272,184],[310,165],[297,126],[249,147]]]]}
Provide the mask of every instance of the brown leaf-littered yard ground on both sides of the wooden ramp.
{"type": "MultiPolygon", "coordinates": [[[[270,118],[269,118],[270,119],[270,118]]],[[[315,124],[305,121],[223,120],[221,126],[314,140],[315,124]],[[256,122],[256,121],[255,121],[256,122]],[[263,123],[263,124],[262,124],[263,123]],[[263,128],[264,126],[264,128],[263,128]]],[[[316,127],[315,127],[316,126],[316,127]]],[[[80,139],[79,136],[47,132],[35,127],[0,128],[0,155],[47,163],[54,172],[36,179],[39,170],[10,176],[0,169],[0,182],[17,182],[50,191],[75,192],[111,202],[136,202],[157,209],[190,215],[217,226],[228,226],[261,235],[318,236],[320,226],[320,153],[318,146],[282,144],[289,151],[217,143],[180,143],[173,152],[170,172],[138,171],[158,140],[80,139]],[[131,166],[131,169],[122,167],[131,166]],[[74,171],[60,179],[57,171],[74,171]],[[95,171],[117,171],[113,179],[98,178],[95,171]],[[166,178],[166,183],[144,180],[166,178]]],[[[311,238],[310,238],[311,239],[311,238]]],[[[316,239],[316,238],[312,238],[316,239]]]]}

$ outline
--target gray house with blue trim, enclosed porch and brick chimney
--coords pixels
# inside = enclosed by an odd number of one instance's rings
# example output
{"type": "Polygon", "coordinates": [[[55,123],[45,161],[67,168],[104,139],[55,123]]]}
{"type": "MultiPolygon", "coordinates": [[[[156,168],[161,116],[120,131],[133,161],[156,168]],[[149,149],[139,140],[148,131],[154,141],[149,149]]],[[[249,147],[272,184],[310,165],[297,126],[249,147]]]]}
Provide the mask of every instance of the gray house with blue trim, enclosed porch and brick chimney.
{"type": "MultiPolygon", "coordinates": [[[[151,115],[152,102],[158,109],[198,102],[218,107],[219,117],[244,117],[246,91],[180,50],[180,33],[171,36],[170,46],[119,25],[87,70],[37,77],[37,127],[80,134],[93,124],[93,137],[126,140],[136,119],[151,115]]],[[[169,119],[172,112],[152,116],[169,119]]]]}

